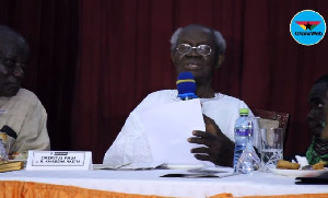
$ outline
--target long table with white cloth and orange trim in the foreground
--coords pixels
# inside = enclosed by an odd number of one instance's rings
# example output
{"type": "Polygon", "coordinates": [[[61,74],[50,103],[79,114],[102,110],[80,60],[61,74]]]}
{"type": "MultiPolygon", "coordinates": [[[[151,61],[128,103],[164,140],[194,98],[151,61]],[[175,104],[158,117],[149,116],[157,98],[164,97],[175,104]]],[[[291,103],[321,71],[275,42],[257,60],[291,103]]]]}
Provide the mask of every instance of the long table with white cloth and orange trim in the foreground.
{"type": "MultiPolygon", "coordinates": [[[[163,196],[163,197],[245,197],[245,196],[282,196],[294,195],[301,198],[328,197],[327,185],[295,185],[295,177],[280,176],[273,173],[255,172],[251,175],[234,175],[223,178],[172,178],[160,177],[168,173],[185,173],[180,170],[153,171],[16,171],[0,174],[0,195],[8,188],[8,180],[17,180],[12,190],[24,188],[26,183],[32,187],[51,184],[71,186],[109,193],[124,193],[116,197],[163,196]],[[21,184],[17,185],[17,184],[21,184]],[[130,195],[133,194],[133,195],[130,195]],[[126,195],[126,196],[125,196],[126,195]],[[215,196],[216,195],[216,196],[215,196]],[[298,195],[298,196],[297,196],[298,195]]],[[[56,187],[56,186],[55,186],[56,187]]],[[[73,188],[73,187],[72,187],[73,188]]],[[[82,190],[74,188],[73,190],[82,190]]],[[[25,190],[28,191],[28,190],[25,190]]],[[[90,194],[91,195],[91,194],[90,194]]],[[[1,196],[0,196],[1,197],[1,196]]],[[[55,197],[55,196],[54,196],[55,197]]],[[[90,196],[92,197],[92,196],[90,196]]],[[[106,196],[105,196],[106,197],[106,196]]],[[[109,197],[109,196],[108,196],[109,197]]],[[[113,196],[115,197],[115,196],[113,196]]],[[[283,196],[282,196],[283,197],[283,196]]],[[[290,196],[293,197],[293,196],[290,196]]]]}

